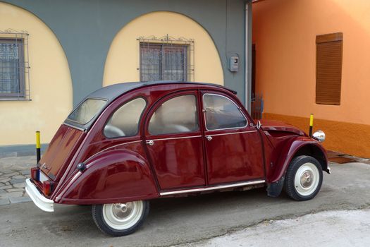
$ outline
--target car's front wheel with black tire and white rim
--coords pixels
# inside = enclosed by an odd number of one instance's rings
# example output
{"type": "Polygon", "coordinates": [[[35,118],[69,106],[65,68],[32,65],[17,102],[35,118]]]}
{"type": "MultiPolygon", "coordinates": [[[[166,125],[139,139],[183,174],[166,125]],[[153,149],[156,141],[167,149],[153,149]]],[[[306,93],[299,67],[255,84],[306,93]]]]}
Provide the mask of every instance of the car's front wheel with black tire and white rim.
{"type": "Polygon", "coordinates": [[[319,193],[322,183],[323,170],[317,159],[306,155],[292,159],[285,174],[284,186],[290,198],[310,200],[319,193]]]}

